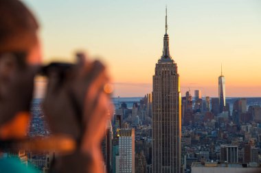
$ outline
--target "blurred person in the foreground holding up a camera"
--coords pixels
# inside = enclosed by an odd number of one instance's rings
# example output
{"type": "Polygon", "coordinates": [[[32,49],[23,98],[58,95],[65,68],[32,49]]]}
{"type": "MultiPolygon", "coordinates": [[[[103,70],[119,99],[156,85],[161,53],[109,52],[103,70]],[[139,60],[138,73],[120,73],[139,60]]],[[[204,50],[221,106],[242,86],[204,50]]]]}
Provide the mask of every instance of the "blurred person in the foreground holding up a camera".
{"type": "MultiPolygon", "coordinates": [[[[76,143],[73,151],[56,155],[50,172],[100,173],[104,172],[100,142],[113,109],[111,85],[100,62],[91,62],[83,53],[76,56],[78,60],[72,68],[59,71],[52,67],[47,71],[43,108],[49,127],[54,135],[69,137],[76,143]]],[[[39,66],[41,44],[36,18],[21,1],[0,0],[1,141],[26,137],[39,66]]],[[[19,172],[17,165],[0,158],[0,172],[19,172]]],[[[20,171],[34,172],[29,168],[20,171]]]]}

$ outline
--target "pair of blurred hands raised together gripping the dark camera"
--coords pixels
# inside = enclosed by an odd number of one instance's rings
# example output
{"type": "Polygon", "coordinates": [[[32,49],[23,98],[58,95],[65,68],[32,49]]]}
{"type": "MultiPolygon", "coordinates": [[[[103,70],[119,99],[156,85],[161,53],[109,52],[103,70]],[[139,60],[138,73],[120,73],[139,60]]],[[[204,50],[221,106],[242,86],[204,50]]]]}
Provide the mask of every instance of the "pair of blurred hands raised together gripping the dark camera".
{"type": "Polygon", "coordinates": [[[100,143],[110,118],[109,77],[100,62],[77,56],[78,64],[63,75],[49,71],[44,111],[53,133],[70,135],[87,150],[100,143]]]}

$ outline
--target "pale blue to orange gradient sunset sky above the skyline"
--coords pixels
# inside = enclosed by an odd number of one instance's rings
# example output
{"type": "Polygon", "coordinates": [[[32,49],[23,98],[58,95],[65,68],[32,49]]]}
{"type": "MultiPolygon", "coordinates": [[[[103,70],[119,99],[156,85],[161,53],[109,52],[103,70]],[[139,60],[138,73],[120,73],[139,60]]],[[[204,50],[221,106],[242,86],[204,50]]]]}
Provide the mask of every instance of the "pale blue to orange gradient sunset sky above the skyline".
{"type": "Polygon", "coordinates": [[[41,23],[45,62],[84,50],[106,62],[115,96],[152,91],[168,5],[170,54],[181,94],[218,96],[220,64],[227,96],[261,96],[261,1],[25,0],[41,23]]]}

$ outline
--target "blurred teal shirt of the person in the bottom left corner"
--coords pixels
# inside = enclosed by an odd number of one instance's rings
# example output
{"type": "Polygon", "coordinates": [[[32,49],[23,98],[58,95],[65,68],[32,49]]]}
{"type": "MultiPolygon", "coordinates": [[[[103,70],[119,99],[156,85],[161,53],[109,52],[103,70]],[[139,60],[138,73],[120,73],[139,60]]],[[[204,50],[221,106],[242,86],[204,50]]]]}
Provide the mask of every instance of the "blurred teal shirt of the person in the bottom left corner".
{"type": "Polygon", "coordinates": [[[30,165],[21,163],[18,157],[0,157],[0,173],[38,173],[30,165]]]}

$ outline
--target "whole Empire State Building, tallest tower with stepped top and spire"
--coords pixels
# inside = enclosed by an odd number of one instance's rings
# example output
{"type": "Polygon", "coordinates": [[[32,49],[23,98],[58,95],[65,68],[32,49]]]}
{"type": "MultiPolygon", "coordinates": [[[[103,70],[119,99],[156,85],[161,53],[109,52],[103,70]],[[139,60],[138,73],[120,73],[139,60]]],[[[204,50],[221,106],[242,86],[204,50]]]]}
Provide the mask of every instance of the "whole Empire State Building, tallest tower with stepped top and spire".
{"type": "Polygon", "coordinates": [[[181,170],[181,94],[177,64],[170,56],[169,37],[163,39],[163,54],[153,76],[152,172],[181,170]]]}

